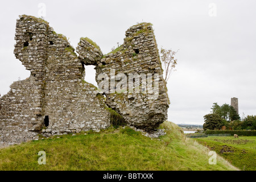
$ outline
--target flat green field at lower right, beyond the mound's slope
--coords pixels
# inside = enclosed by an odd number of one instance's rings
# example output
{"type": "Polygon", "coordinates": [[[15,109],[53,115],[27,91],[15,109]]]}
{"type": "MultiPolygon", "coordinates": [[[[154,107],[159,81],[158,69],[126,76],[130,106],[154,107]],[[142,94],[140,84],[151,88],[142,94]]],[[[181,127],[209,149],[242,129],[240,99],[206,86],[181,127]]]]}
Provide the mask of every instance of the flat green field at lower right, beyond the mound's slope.
{"type": "Polygon", "coordinates": [[[207,137],[196,140],[216,151],[233,166],[246,171],[256,170],[256,136],[207,137]]]}

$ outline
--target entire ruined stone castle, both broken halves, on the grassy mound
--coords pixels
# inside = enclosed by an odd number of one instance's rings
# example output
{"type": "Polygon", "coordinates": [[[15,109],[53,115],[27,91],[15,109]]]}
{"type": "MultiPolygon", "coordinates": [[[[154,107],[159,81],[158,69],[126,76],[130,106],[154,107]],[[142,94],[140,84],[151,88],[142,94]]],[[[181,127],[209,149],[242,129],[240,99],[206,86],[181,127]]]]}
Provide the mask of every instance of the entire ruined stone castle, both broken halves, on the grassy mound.
{"type": "Polygon", "coordinates": [[[0,146],[36,140],[39,134],[105,129],[111,125],[109,109],[130,126],[156,129],[167,119],[169,100],[154,31],[150,23],[141,23],[125,35],[124,43],[107,55],[92,40],[81,38],[77,56],[67,38],[53,31],[48,22],[19,16],[14,54],[31,75],[15,81],[0,98],[0,146]],[[95,65],[98,86],[105,79],[102,75],[109,78],[103,89],[83,80],[85,65],[95,65]],[[147,78],[130,85],[130,75],[135,74],[147,78]],[[118,75],[128,78],[122,88],[130,88],[129,92],[115,90],[121,80],[118,75]],[[157,85],[148,86],[148,80],[157,85]]]}

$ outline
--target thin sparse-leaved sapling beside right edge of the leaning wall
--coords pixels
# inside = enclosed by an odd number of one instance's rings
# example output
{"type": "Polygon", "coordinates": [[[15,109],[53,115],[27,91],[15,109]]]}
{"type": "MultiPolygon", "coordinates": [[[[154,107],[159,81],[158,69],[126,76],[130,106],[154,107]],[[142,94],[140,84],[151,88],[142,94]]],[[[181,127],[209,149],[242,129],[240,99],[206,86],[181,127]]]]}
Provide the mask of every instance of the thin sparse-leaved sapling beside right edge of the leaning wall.
{"type": "Polygon", "coordinates": [[[160,57],[163,63],[164,69],[164,80],[167,82],[173,72],[176,71],[175,67],[177,65],[177,59],[174,58],[177,51],[172,51],[172,49],[161,48],[160,57]]]}

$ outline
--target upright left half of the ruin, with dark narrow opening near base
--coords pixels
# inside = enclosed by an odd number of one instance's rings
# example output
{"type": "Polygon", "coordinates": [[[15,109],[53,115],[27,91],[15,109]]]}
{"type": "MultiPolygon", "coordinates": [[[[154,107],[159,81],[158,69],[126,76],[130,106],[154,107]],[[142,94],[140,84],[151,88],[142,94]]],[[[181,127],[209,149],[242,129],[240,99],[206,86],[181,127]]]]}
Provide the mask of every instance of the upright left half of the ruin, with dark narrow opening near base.
{"type": "Polygon", "coordinates": [[[104,97],[82,80],[83,65],[65,36],[42,19],[22,15],[15,40],[14,54],[31,76],[0,98],[0,144],[110,126],[104,97]]]}

